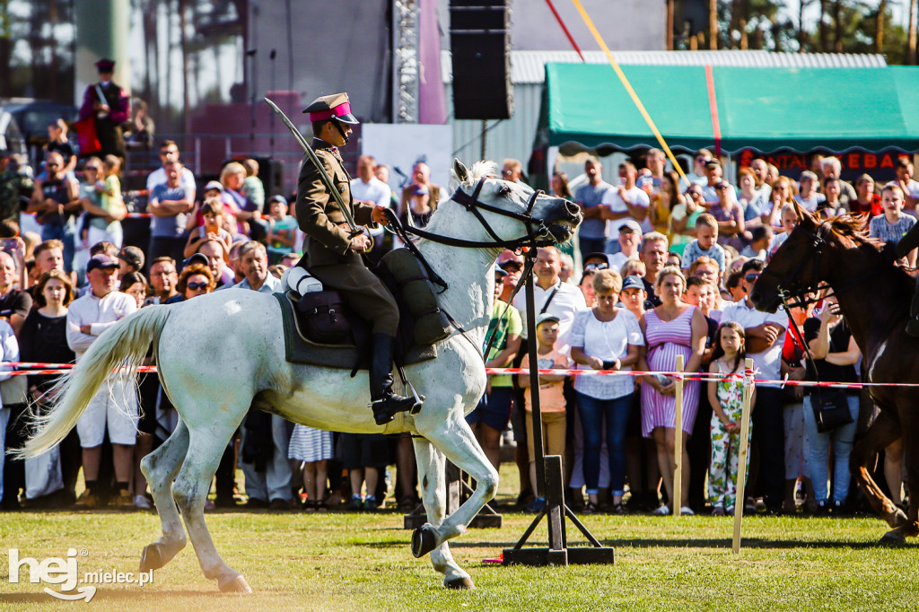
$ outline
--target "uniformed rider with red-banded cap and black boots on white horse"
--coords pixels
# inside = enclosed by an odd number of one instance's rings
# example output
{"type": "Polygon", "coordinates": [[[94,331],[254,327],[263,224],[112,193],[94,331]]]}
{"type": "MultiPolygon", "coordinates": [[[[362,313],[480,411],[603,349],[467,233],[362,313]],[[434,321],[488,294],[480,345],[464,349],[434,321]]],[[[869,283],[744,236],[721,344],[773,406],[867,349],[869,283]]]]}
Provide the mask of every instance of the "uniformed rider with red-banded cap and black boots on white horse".
{"type": "MultiPolygon", "coordinates": [[[[325,173],[350,207],[357,225],[386,224],[385,207],[354,203],[351,176],[342,164],[337,147],[343,146],[357,123],[347,94],[316,98],[304,113],[312,121],[312,149],[325,173]]],[[[352,235],[345,215],[323,184],[309,156],[303,158],[297,182],[297,222],[306,234],[301,266],[372,325],[370,361],[370,407],[377,425],[389,423],[396,413],[414,406],[414,399],[392,392],[392,346],[399,326],[399,309],[391,293],[361,259],[370,249],[366,233],[352,235]]]]}

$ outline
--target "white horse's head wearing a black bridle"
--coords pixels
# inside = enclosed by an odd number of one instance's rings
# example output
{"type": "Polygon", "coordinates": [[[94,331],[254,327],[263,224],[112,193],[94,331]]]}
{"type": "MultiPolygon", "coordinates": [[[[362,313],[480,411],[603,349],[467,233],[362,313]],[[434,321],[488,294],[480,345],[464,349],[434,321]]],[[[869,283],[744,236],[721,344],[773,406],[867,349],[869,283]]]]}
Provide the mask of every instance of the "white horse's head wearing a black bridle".
{"type": "Polygon", "coordinates": [[[573,236],[582,220],[576,204],[494,178],[494,169],[491,162],[478,162],[467,169],[454,160],[453,176],[458,187],[451,200],[459,207],[453,214],[437,215],[437,226],[432,218],[427,229],[511,248],[532,241],[539,245],[559,244],[573,236]]]}

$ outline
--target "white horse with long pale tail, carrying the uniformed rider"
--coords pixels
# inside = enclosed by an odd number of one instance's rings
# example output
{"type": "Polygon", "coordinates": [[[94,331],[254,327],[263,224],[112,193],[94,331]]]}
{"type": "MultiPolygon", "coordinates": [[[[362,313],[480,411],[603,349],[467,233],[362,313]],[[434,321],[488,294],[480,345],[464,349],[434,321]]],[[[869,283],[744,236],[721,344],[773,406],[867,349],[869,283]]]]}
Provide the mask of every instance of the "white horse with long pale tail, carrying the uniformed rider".
{"type": "Polygon", "coordinates": [[[24,454],[35,456],[58,444],[108,372],[136,367],[153,342],[160,380],[181,420],[173,435],[142,461],[163,526],[163,536],[143,550],[142,570],[163,567],[185,547],[178,504],[204,575],[216,579],[221,591],[251,592],[243,575],[214,548],[203,511],[223,449],[254,406],[323,429],[421,436],[414,438],[414,449],[430,523],[415,530],[412,551],[415,557],[431,552],[448,587],[471,588],[469,574],[453,561],[447,541],[464,531],[498,484],[497,472],[464,419],[485,389],[481,347],[492,312],[492,268],[501,250],[494,238],[501,243],[519,243],[523,236],[538,237],[543,244],[562,242],[571,237],[581,214],[562,198],[485,178],[494,174],[494,164],[480,162],[470,172],[456,161],[453,172],[459,190],[471,198],[458,192],[454,198],[463,203],[444,203],[427,230],[487,245],[457,248],[434,239],[419,244],[448,283],[441,306],[466,330],[465,337],[454,333],[439,343],[436,359],[405,368],[426,396],[419,414],[401,413],[388,425],[376,425],[368,408],[366,371],[352,379],[347,370],[289,363],[278,301],[256,291],[226,290],[190,304],[144,308],[100,335],[62,380],[56,405],[40,420],[24,454]],[[476,481],[475,493],[446,519],[445,455],[476,481]]]}

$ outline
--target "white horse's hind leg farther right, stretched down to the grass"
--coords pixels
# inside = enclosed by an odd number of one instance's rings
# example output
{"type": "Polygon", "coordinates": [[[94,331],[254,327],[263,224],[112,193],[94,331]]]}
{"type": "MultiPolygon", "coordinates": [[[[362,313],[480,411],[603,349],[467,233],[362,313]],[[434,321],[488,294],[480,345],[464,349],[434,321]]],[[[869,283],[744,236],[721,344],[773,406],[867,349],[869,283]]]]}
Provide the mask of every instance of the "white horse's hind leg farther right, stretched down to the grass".
{"type": "MultiPolygon", "coordinates": [[[[223,562],[214,548],[208,526],[204,522],[204,503],[210,491],[210,481],[217,471],[223,449],[229,444],[230,437],[243,420],[245,408],[238,411],[214,410],[213,413],[221,415],[221,418],[211,421],[208,425],[188,424],[188,453],[173,484],[173,497],[182,510],[188,538],[191,538],[191,544],[195,547],[205,577],[217,580],[217,585],[223,592],[252,593],[243,574],[223,562]],[[232,422],[228,423],[223,419],[232,422]]],[[[200,418],[199,414],[195,416],[200,418]]]]}

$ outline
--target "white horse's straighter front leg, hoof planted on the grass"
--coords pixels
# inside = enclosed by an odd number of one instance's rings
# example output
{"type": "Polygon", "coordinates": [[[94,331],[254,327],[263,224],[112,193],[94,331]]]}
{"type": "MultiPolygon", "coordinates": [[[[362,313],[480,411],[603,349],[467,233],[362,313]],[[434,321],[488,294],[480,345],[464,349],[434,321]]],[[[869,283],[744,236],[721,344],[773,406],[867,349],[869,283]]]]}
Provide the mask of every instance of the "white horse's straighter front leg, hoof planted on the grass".
{"type": "MultiPolygon", "coordinates": [[[[414,456],[418,461],[418,480],[421,482],[427,521],[432,527],[439,527],[447,514],[446,459],[442,452],[423,437],[414,438],[414,456]]],[[[444,586],[447,588],[473,588],[469,573],[453,561],[447,541],[441,542],[440,546],[431,550],[431,563],[437,572],[444,574],[444,586]]]]}

